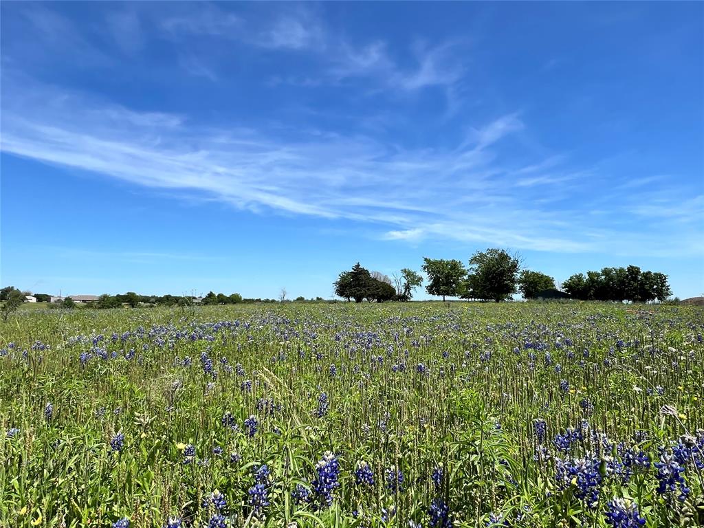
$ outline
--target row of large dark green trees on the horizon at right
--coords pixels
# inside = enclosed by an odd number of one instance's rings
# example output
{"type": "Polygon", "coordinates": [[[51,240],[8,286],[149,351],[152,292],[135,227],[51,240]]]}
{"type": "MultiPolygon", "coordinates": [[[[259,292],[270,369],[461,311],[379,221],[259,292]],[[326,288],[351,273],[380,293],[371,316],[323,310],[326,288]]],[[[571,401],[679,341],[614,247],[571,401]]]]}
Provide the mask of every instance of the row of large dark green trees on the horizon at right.
{"type": "MultiPolygon", "coordinates": [[[[424,258],[427,275],[425,291],[430,295],[460,297],[477,301],[505,301],[520,292],[524,298],[555,296],[560,293],[555,279],[543,272],[522,269],[522,258],[505,249],[477,251],[469,266],[460,260],[424,258]]],[[[423,277],[408,268],[394,282],[379,272],[370,272],[356,263],[341,272],[334,282],[335,294],[347,301],[410,301],[423,277]]],[[[601,272],[572,275],[562,284],[572,298],[598,301],[665,301],[672,295],[667,275],[641,272],[637,266],[603,268],[601,272]]]]}

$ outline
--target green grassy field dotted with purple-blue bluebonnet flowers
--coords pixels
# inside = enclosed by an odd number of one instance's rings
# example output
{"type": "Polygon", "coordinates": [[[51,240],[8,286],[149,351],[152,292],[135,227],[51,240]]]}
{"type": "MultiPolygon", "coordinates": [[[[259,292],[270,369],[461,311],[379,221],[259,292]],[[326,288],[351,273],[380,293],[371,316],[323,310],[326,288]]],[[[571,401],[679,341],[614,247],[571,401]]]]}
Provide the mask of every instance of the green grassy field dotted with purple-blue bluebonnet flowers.
{"type": "Polygon", "coordinates": [[[0,526],[701,526],[702,334],[600,303],[20,312],[0,526]]]}

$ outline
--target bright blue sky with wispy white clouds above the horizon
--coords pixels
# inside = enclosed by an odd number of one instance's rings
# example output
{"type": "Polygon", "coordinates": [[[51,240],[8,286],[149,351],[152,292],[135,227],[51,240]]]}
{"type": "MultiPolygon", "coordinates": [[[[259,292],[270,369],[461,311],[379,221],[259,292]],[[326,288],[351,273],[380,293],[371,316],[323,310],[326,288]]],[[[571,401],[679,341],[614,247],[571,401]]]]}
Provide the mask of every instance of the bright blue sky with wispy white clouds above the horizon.
{"type": "Polygon", "coordinates": [[[1,6],[1,277],[332,296],[519,251],[704,292],[704,4],[1,6]]]}

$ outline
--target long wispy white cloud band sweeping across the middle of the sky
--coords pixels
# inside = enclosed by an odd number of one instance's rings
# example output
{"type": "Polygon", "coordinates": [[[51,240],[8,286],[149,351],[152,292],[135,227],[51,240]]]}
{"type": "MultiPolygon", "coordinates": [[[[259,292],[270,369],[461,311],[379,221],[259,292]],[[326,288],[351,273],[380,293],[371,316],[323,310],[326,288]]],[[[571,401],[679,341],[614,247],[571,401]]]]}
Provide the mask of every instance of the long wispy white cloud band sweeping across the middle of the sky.
{"type": "MultiPolygon", "coordinates": [[[[611,214],[587,215],[589,203],[577,190],[577,199],[560,208],[545,205],[555,178],[593,184],[574,177],[577,170],[560,170],[560,160],[503,168],[504,142],[527,128],[515,113],[472,128],[455,149],[408,149],[360,133],[283,125],[213,130],[192,125],[187,116],[131,111],[23,81],[4,80],[5,153],[262,214],[365,222],[378,237],[397,241],[649,251],[636,248],[645,222],[610,227],[624,210],[620,203],[611,214]],[[550,179],[540,180],[543,167],[550,168],[550,179]],[[533,178],[529,184],[526,175],[533,178]]],[[[633,213],[662,220],[650,236],[661,237],[665,247],[696,251],[696,230],[669,231],[673,206],[674,198],[651,200],[633,213]]],[[[701,199],[685,209],[698,214],[701,199]]]]}

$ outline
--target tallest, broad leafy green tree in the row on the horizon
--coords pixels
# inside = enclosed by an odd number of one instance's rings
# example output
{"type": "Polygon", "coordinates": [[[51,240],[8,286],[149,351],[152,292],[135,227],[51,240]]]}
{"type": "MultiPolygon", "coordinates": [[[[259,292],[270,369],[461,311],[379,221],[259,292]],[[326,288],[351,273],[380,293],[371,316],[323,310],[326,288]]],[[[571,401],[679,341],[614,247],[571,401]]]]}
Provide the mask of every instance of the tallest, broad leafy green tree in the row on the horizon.
{"type": "Polygon", "coordinates": [[[504,249],[477,251],[470,258],[464,296],[484,301],[504,301],[516,292],[520,258],[504,249]]]}

